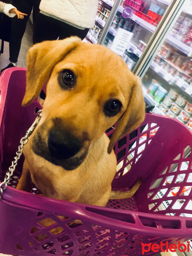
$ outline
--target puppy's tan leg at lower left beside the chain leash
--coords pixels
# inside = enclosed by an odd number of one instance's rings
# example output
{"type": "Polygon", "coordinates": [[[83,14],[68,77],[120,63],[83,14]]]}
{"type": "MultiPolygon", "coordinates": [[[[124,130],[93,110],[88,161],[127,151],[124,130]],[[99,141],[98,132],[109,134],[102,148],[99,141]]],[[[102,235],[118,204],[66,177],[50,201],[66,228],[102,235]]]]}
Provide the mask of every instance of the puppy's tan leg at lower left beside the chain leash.
{"type": "Polygon", "coordinates": [[[23,172],[17,184],[17,189],[30,192],[31,186],[32,186],[32,179],[29,171],[29,165],[25,160],[23,163],[23,172]]]}

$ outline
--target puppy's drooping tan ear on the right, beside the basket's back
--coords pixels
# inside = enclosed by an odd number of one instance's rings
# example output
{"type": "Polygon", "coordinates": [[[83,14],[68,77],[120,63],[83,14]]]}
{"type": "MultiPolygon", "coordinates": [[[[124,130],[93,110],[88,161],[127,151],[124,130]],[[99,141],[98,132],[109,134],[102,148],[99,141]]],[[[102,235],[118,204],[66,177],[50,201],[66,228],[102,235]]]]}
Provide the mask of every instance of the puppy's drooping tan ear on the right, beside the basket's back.
{"type": "Polygon", "coordinates": [[[143,98],[141,80],[138,76],[135,76],[127,109],[117,121],[116,129],[113,132],[108,146],[108,153],[111,153],[113,146],[119,139],[134,131],[134,129],[136,129],[144,121],[144,119],[145,102],[143,98]]]}

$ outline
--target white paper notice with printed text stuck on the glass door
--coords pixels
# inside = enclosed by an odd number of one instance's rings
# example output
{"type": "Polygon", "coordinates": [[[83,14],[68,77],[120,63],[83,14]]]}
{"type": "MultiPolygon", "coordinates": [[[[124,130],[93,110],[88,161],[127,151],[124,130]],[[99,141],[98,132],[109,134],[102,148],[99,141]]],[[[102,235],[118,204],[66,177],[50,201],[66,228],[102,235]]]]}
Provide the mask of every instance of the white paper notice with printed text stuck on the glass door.
{"type": "Polygon", "coordinates": [[[113,44],[111,45],[111,50],[116,52],[118,55],[122,56],[125,52],[125,49],[128,43],[131,41],[133,33],[119,28],[116,32],[116,36],[113,40],[113,44]]]}

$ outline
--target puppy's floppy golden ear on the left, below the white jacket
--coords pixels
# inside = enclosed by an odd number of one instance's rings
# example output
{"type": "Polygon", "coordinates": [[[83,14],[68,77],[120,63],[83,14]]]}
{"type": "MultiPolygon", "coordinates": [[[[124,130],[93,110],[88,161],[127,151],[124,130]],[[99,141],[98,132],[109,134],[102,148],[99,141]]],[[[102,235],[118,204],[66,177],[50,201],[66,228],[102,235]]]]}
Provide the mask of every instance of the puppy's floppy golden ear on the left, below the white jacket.
{"type": "Polygon", "coordinates": [[[32,46],[27,53],[26,93],[22,105],[29,105],[40,93],[44,83],[59,61],[81,44],[78,37],[44,41],[32,46]]]}

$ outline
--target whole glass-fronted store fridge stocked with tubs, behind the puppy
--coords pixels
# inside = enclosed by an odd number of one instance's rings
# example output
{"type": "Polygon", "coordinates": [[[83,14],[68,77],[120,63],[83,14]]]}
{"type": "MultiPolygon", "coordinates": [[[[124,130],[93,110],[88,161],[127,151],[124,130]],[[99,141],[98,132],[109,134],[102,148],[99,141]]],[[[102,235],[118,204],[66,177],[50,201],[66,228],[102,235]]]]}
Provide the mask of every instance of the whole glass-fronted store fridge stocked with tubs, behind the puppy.
{"type": "Polygon", "coordinates": [[[112,49],[142,78],[146,105],[154,105],[154,113],[192,130],[191,2],[100,0],[87,38],[112,49]]]}

